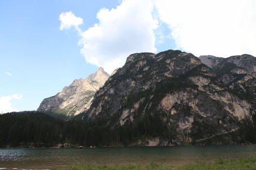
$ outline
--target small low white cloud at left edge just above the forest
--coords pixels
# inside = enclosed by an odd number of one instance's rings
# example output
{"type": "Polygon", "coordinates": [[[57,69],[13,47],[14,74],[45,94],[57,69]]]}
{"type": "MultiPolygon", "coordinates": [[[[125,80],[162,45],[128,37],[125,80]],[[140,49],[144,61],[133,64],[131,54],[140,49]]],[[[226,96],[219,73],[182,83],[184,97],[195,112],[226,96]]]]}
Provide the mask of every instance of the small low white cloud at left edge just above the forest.
{"type": "Polygon", "coordinates": [[[12,107],[12,100],[21,100],[22,95],[14,94],[12,96],[1,96],[0,97],[0,114],[8,112],[18,112],[19,110],[12,107]]]}

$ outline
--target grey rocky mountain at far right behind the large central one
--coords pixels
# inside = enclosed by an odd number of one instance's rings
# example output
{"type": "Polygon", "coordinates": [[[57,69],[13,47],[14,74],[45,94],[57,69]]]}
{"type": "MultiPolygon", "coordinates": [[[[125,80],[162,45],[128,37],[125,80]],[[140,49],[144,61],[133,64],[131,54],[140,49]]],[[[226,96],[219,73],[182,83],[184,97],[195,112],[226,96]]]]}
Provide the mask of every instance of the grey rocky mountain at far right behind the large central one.
{"type": "Polygon", "coordinates": [[[213,65],[211,61],[219,61],[213,67],[217,78],[240,98],[255,102],[256,57],[243,54],[228,58],[200,56],[199,59],[209,67],[213,65]],[[206,62],[205,58],[210,62],[206,62]]]}

